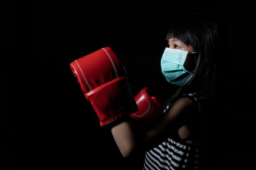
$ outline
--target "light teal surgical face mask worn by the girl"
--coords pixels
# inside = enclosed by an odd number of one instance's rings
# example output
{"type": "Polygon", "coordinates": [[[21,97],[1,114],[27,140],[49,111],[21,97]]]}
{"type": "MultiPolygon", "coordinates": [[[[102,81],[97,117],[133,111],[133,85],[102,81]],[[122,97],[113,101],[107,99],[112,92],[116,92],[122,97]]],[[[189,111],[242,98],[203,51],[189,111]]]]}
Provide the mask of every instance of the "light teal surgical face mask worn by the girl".
{"type": "Polygon", "coordinates": [[[161,70],[169,83],[184,86],[191,79],[193,72],[187,71],[183,66],[188,54],[189,51],[165,48],[161,58],[161,70]]]}

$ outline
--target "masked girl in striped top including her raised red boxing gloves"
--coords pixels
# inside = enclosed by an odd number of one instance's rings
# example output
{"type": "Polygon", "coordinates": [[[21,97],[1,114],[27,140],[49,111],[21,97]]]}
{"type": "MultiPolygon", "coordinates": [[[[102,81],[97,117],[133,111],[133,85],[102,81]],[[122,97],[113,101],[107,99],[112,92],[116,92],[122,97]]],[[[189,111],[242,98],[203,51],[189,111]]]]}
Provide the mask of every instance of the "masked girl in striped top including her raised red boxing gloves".
{"type": "Polygon", "coordinates": [[[222,119],[218,106],[227,66],[227,44],[220,28],[217,16],[200,13],[173,22],[161,71],[177,91],[162,107],[150,107],[150,113],[160,114],[145,124],[137,124],[131,116],[144,105],[135,102],[126,71],[109,47],[70,64],[100,125],[111,129],[124,157],[145,155],[144,170],[210,169],[209,153],[215,145],[212,129],[222,119]]]}

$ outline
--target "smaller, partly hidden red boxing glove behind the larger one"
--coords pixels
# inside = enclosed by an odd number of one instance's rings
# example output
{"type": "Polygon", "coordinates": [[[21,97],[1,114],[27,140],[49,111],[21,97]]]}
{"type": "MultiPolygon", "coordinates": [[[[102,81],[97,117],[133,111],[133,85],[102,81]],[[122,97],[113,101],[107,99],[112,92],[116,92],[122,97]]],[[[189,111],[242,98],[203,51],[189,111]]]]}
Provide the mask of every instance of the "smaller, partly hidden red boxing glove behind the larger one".
{"type": "Polygon", "coordinates": [[[160,109],[163,106],[163,100],[160,97],[155,97],[148,87],[144,87],[135,96],[135,101],[139,110],[130,115],[133,119],[150,122],[161,114],[160,109]]]}

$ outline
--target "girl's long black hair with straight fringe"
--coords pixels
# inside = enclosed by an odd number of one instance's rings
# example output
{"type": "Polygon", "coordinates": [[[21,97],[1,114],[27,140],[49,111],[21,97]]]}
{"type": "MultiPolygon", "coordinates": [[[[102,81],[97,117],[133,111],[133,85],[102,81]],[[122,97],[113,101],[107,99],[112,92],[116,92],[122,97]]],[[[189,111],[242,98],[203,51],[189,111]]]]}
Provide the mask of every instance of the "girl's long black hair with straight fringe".
{"type": "Polygon", "coordinates": [[[166,40],[174,38],[181,40],[187,46],[191,45],[198,55],[198,62],[193,77],[177,92],[190,89],[196,82],[202,82],[202,92],[215,102],[218,82],[227,63],[227,55],[222,48],[225,29],[217,14],[195,13],[176,20],[170,27],[166,40]]]}

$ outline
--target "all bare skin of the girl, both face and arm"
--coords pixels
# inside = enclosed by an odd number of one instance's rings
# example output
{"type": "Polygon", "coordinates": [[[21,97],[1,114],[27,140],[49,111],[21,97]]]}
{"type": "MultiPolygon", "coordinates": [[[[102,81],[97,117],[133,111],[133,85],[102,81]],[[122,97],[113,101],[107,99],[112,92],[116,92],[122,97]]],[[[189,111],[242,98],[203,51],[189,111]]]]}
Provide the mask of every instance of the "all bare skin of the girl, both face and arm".
{"type": "MultiPolygon", "coordinates": [[[[186,46],[186,44],[176,39],[169,39],[168,45],[171,49],[194,52],[192,46],[186,46]]],[[[184,67],[188,71],[193,71],[195,64],[195,55],[188,55],[184,67]]],[[[124,157],[140,155],[160,144],[173,132],[177,132],[181,139],[188,137],[193,130],[189,126],[192,107],[193,103],[190,99],[186,97],[177,99],[165,114],[158,117],[143,131],[143,134],[138,135],[137,130],[134,129],[129,121],[121,122],[112,127],[111,132],[121,154],[124,157]]]]}

